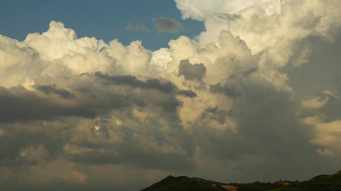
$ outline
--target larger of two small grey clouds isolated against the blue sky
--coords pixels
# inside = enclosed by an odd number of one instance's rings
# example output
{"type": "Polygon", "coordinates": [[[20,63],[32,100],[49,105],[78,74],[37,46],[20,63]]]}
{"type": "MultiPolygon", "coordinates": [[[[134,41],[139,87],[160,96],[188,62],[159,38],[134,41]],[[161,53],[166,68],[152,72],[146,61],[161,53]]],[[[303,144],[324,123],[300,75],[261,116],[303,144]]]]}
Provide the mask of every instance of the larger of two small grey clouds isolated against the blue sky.
{"type": "Polygon", "coordinates": [[[183,30],[182,24],[174,18],[160,17],[153,18],[153,24],[157,28],[158,33],[162,32],[177,32],[183,30]]]}

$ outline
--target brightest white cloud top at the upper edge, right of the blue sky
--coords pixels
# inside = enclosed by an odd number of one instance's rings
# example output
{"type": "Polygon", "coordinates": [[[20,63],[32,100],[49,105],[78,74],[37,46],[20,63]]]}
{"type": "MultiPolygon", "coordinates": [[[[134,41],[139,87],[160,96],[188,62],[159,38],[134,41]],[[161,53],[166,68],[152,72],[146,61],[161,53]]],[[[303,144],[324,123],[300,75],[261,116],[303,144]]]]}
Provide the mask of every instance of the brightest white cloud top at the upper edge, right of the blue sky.
{"type": "MultiPolygon", "coordinates": [[[[228,19],[234,18],[249,6],[262,7],[266,15],[281,12],[281,5],[285,0],[219,0],[208,2],[205,0],[175,0],[176,7],[181,11],[182,19],[195,19],[205,22],[205,29],[197,36],[201,44],[214,42],[223,29],[228,28],[228,19]]],[[[249,14],[253,14],[249,10],[249,14]]],[[[250,15],[250,16],[251,16],[250,15]]],[[[238,36],[238,34],[234,34],[238,36]]]]}

